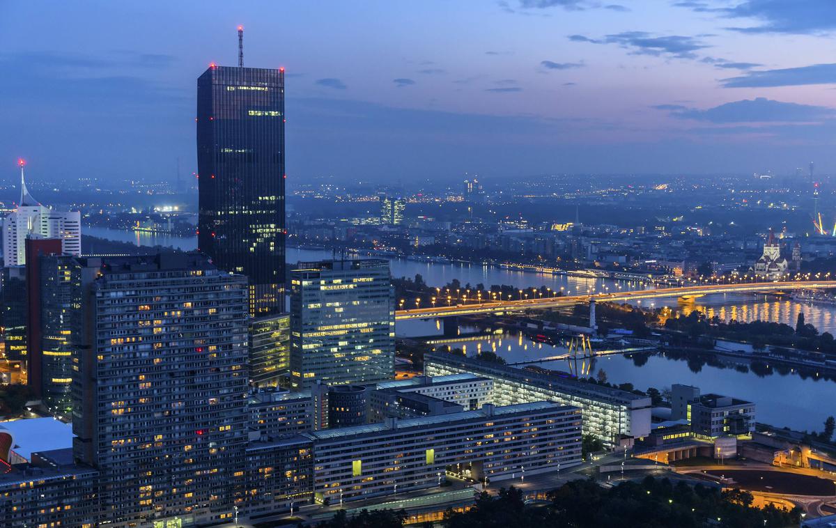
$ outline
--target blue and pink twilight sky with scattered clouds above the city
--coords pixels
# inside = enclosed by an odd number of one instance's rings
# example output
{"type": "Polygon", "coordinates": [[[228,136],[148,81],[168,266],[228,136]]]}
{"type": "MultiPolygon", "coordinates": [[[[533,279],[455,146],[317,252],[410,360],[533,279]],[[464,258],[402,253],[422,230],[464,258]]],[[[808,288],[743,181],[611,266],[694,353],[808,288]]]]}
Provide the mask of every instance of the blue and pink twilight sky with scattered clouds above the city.
{"type": "Polygon", "coordinates": [[[195,170],[196,78],[287,69],[288,180],[836,170],[833,0],[0,3],[0,180],[195,170]]]}

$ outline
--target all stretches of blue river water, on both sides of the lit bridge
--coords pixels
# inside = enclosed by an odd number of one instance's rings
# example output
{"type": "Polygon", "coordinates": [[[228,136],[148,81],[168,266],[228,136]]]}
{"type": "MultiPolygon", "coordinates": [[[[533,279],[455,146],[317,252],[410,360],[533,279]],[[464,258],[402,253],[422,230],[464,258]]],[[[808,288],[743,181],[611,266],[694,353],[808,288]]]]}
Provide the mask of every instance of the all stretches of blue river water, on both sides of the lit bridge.
{"type": "MultiPolygon", "coordinates": [[[[113,240],[131,241],[140,246],[162,243],[181,249],[194,249],[196,241],[191,238],[137,235],[132,232],[114,230],[84,231],[93,236],[113,240]]],[[[298,261],[317,261],[331,258],[331,251],[288,248],[288,264],[298,261]]],[[[474,264],[441,264],[434,262],[411,261],[402,258],[390,258],[393,277],[415,277],[420,274],[430,285],[444,286],[454,278],[462,285],[478,283],[490,287],[492,284],[508,284],[514,287],[551,287],[567,293],[589,293],[644,289],[650,287],[640,282],[616,281],[601,278],[554,276],[536,272],[518,272],[498,267],[474,264]]],[[[709,317],[753,321],[762,319],[772,322],[794,324],[799,312],[805,320],[820,332],[836,333],[836,307],[830,305],[809,304],[792,300],[778,300],[771,297],[758,297],[748,294],[718,294],[700,297],[694,302],[682,303],[677,299],[645,300],[644,306],[668,306],[673,312],[689,313],[692,310],[705,312],[709,317]]],[[[463,327],[462,331],[472,330],[463,327]]],[[[418,336],[441,333],[440,323],[435,320],[399,322],[397,333],[401,336],[418,336]]],[[[563,352],[564,348],[553,347],[544,343],[532,343],[515,334],[479,341],[453,344],[454,347],[466,348],[468,353],[478,350],[493,350],[507,361],[549,357],[563,352]]],[[[539,363],[545,368],[567,370],[564,361],[539,363]]],[[[589,368],[589,366],[587,366],[589,368]]],[[[604,369],[610,383],[633,383],[636,388],[665,388],[672,383],[687,383],[700,387],[704,393],[729,393],[741,399],[749,399],[757,404],[759,421],[788,426],[793,429],[820,430],[824,419],[829,414],[836,414],[836,408],[830,402],[836,402],[836,382],[816,376],[815,373],[801,374],[790,369],[756,368],[757,373],[747,362],[722,363],[711,359],[708,363],[691,358],[671,358],[662,354],[640,354],[635,358],[610,356],[598,358],[589,368],[589,375],[595,376],[599,369],[604,369]]]]}

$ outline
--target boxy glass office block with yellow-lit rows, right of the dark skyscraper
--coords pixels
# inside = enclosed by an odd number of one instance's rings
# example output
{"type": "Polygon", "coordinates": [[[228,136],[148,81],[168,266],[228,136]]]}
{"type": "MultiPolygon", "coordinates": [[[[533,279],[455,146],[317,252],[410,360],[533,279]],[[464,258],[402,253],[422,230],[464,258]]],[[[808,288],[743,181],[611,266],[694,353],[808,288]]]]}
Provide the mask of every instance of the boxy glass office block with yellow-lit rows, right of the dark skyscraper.
{"type": "Polygon", "coordinates": [[[394,377],[395,296],[388,261],[300,262],[290,284],[293,387],[394,377]]]}

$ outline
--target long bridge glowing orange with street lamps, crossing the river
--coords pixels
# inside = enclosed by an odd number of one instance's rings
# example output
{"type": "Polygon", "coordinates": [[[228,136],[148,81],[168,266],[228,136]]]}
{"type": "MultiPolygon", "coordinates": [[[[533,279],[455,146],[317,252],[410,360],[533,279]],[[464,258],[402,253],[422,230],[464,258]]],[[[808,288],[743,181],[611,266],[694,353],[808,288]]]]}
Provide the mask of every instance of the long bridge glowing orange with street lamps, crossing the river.
{"type": "Polygon", "coordinates": [[[572,295],[566,297],[541,297],[537,299],[521,299],[517,301],[468,302],[466,304],[456,304],[452,306],[398,310],[395,312],[395,320],[405,321],[408,319],[426,319],[431,317],[455,317],[486,313],[498,314],[525,312],[528,310],[572,306],[574,304],[589,302],[593,299],[597,302],[630,302],[640,301],[642,299],[659,299],[665,297],[702,297],[712,293],[789,292],[793,290],[825,288],[836,288],[836,281],[701,284],[696,286],[636,290],[634,292],[596,293],[593,295],[572,295]]]}

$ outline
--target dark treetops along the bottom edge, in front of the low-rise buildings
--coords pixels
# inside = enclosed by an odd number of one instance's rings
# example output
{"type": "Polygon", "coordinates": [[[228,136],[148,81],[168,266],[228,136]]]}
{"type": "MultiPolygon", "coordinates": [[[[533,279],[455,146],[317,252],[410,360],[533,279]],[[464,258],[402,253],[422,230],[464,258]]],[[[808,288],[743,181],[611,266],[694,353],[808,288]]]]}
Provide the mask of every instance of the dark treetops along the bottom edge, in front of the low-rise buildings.
{"type": "MultiPolygon", "coordinates": [[[[752,495],[742,490],[718,490],[684,481],[673,483],[651,476],[640,483],[624,482],[603,488],[594,480],[573,480],[548,493],[547,500],[529,502],[516,488],[482,493],[469,510],[447,510],[446,528],[761,528],[797,526],[801,510],[774,505],[752,507],[752,495]]],[[[341,510],[322,528],[396,528],[403,510],[362,511],[350,517],[341,510]]],[[[427,524],[429,525],[429,523],[427,524]]]]}

